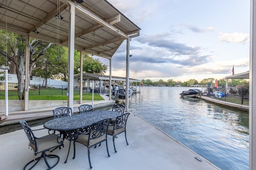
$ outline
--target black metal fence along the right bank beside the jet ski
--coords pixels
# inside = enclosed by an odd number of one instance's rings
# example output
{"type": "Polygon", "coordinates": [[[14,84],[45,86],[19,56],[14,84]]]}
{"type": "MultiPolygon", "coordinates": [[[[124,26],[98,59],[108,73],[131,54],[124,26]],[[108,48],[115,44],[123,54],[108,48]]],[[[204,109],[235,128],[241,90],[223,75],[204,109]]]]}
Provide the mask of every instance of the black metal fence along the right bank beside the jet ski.
{"type": "Polygon", "coordinates": [[[249,106],[249,88],[202,88],[202,95],[225,102],[249,106]],[[208,92],[209,90],[209,92],[208,92]],[[214,91],[219,91],[225,94],[222,98],[217,98],[214,91]]]}

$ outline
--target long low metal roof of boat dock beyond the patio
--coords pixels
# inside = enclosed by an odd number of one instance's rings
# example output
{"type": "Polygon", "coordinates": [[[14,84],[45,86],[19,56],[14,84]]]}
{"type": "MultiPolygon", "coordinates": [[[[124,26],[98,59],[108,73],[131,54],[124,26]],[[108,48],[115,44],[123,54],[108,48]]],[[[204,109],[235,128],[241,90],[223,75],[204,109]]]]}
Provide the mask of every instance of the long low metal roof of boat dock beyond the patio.
{"type": "MultiPolygon", "coordinates": [[[[74,78],[80,78],[80,74],[74,76],[74,78]]],[[[100,75],[100,74],[91,74],[91,73],[83,73],[83,80],[109,80],[110,76],[108,75],[100,75]]],[[[125,77],[111,76],[111,80],[113,81],[126,81],[125,77]]],[[[141,82],[141,80],[137,80],[134,78],[129,78],[130,82],[141,82]]]]}

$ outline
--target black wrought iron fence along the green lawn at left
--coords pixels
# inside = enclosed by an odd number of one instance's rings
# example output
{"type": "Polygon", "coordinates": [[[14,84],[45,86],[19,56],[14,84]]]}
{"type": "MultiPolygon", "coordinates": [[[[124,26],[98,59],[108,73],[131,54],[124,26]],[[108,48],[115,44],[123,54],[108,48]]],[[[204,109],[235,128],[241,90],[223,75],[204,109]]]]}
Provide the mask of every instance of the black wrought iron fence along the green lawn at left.
{"type": "MultiPolygon", "coordinates": [[[[21,94],[24,89],[24,84],[22,84],[21,94]]],[[[83,92],[87,92],[87,88],[83,88],[83,92]]],[[[68,86],[59,85],[47,85],[42,86],[40,84],[30,84],[29,95],[32,96],[62,96],[66,95],[68,92],[68,86]]],[[[89,91],[90,92],[90,91],[89,91]]],[[[80,87],[74,87],[74,95],[80,94],[80,87]]],[[[0,96],[5,96],[5,83],[0,82],[0,96]]],[[[18,84],[8,83],[8,96],[18,96],[18,84]]]]}

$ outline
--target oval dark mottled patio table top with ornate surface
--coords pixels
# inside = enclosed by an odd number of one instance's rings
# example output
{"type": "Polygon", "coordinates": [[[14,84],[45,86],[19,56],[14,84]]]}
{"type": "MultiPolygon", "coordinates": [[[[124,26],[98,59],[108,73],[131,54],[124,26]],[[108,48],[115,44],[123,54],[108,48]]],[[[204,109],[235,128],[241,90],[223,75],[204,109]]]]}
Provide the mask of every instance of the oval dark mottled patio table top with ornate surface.
{"type": "Polygon", "coordinates": [[[86,127],[107,118],[115,118],[119,116],[120,113],[117,111],[92,111],[72,116],[60,117],[57,119],[52,119],[44,123],[46,129],[58,130],[58,131],[70,131],[86,127]]]}

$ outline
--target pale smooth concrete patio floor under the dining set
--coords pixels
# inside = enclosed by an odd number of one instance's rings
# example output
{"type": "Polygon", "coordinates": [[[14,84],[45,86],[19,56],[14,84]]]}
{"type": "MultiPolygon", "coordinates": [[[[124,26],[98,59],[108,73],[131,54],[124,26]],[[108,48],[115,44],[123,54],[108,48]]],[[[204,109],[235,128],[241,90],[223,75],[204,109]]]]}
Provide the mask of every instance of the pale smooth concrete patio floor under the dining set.
{"type": "MultiPolygon", "coordinates": [[[[32,127],[39,129],[43,126],[32,127]]],[[[94,170],[216,170],[214,166],[200,155],[184,147],[170,136],[160,131],[138,115],[131,113],[126,125],[126,145],[124,133],[118,135],[115,140],[117,153],[114,152],[112,136],[108,136],[108,149],[110,157],[106,152],[106,144],[91,149],[92,169],[94,170]],[[200,157],[203,161],[195,159],[200,157]]],[[[36,132],[38,137],[48,134],[48,130],[36,132]]],[[[31,149],[28,149],[28,139],[24,130],[0,135],[0,169],[21,170],[24,165],[34,159],[31,149]]],[[[73,143],[72,143],[73,144],[73,143]]],[[[65,164],[68,153],[69,141],[64,140],[64,148],[56,149],[47,154],[57,154],[60,162],[54,170],[86,170],[90,169],[87,155],[87,147],[76,143],[76,158],[73,160],[73,145],[71,145],[68,162],[65,164]]],[[[40,156],[40,155],[39,155],[40,156]]],[[[36,156],[38,157],[38,156],[36,156]]],[[[33,169],[44,170],[47,166],[44,160],[33,169]]]]}

